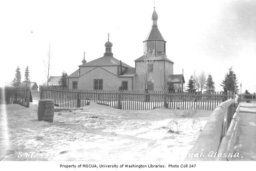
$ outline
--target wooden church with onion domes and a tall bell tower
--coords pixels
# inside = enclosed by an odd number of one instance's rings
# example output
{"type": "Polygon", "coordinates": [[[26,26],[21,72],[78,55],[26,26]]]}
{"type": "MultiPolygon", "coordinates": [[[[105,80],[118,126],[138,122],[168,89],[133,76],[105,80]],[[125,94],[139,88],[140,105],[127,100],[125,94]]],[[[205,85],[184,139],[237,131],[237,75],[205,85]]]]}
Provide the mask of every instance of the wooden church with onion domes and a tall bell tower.
{"type": "MultiPolygon", "coordinates": [[[[174,63],[166,56],[166,41],[158,30],[158,15],[152,14],[152,28],[143,41],[144,54],[135,60],[135,68],[114,58],[113,44],[105,43],[103,57],[90,62],[83,56],[79,69],[68,76],[68,87],[94,90],[170,90],[173,83],[185,83],[183,74],[173,75],[174,63]]],[[[183,86],[181,86],[183,87],[183,86]]]]}

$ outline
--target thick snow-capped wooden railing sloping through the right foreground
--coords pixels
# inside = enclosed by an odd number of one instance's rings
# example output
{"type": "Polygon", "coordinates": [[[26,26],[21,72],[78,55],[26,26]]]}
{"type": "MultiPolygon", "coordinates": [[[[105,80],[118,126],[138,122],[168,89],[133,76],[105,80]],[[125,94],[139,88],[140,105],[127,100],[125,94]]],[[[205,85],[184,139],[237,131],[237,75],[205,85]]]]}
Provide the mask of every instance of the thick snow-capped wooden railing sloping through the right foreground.
{"type": "MultiPolygon", "coordinates": [[[[187,161],[213,161],[216,157],[209,156],[211,152],[224,152],[228,147],[227,144],[234,144],[236,134],[232,134],[231,130],[236,125],[237,129],[237,114],[239,112],[238,103],[234,99],[228,99],[218,105],[213,113],[210,115],[203,131],[200,133],[197,141],[195,141],[190,152],[187,154],[187,161]],[[237,107],[237,108],[236,108],[237,107]],[[223,140],[225,139],[225,140],[223,140]],[[223,144],[224,141],[229,143],[223,144]],[[232,141],[232,142],[231,142],[232,141]],[[221,145],[221,146],[220,146],[221,145]],[[221,147],[221,149],[220,149],[221,147]]],[[[232,148],[232,147],[229,147],[232,148]]],[[[225,153],[227,153],[225,151],[225,153]]],[[[224,158],[226,160],[226,158],[224,158]]]]}

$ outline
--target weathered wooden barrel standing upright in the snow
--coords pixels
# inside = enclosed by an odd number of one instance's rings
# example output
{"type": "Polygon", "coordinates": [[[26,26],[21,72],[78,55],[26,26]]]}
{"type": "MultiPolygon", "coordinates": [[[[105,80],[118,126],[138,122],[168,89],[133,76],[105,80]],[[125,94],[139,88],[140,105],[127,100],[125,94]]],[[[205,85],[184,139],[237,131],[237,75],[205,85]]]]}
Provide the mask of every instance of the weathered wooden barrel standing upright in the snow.
{"type": "Polygon", "coordinates": [[[38,121],[53,122],[54,117],[54,104],[53,100],[43,99],[38,101],[37,107],[38,121]]]}

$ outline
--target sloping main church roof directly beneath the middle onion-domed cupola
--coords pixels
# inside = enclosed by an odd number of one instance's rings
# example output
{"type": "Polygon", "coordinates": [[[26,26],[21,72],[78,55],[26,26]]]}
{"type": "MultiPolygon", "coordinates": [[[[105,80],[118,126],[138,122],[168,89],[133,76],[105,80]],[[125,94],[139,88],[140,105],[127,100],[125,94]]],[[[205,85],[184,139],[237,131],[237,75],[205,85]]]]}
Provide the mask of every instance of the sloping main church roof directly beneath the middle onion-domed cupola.
{"type": "MultiPolygon", "coordinates": [[[[108,65],[117,65],[117,66],[119,66],[120,65],[120,60],[118,60],[114,57],[111,57],[111,56],[105,56],[105,57],[101,57],[101,58],[92,60],[88,63],[82,64],[82,65],[79,65],[79,66],[81,67],[81,66],[108,66],[108,65]]],[[[123,62],[122,62],[122,66],[127,67],[127,68],[131,68],[131,66],[129,66],[129,65],[123,63],[123,62]]]]}

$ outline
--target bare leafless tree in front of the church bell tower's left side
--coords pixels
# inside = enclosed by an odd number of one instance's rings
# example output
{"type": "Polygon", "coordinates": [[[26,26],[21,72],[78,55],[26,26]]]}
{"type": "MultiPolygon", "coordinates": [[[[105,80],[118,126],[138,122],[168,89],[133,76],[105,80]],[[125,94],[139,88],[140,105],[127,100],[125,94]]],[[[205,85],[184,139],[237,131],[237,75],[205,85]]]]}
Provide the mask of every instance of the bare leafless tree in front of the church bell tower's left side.
{"type": "Polygon", "coordinates": [[[156,66],[157,60],[154,59],[154,52],[148,52],[147,54],[143,55],[143,59],[141,62],[138,63],[138,71],[140,75],[142,76],[143,82],[144,82],[144,89],[147,88],[147,81],[149,80],[154,65],[156,66]]]}

